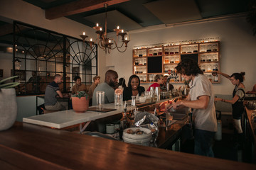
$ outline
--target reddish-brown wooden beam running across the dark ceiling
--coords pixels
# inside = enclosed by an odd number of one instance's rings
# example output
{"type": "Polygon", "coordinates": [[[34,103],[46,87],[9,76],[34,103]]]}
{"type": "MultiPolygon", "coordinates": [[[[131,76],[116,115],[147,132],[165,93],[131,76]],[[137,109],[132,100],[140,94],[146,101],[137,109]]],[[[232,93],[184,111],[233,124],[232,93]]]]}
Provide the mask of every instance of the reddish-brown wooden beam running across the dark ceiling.
{"type": "Polygon", "coordinates": [[[76,13],[82,13],[86,11],[92,11],[97,8],[103,8],[104,4],[109,6],[119,4],[129,0],[79,0],[73,1],[68,4],[55,6],[53,8],[46,9],[46,19],[52,20],[63,16],[70,16],[76,13]]]}

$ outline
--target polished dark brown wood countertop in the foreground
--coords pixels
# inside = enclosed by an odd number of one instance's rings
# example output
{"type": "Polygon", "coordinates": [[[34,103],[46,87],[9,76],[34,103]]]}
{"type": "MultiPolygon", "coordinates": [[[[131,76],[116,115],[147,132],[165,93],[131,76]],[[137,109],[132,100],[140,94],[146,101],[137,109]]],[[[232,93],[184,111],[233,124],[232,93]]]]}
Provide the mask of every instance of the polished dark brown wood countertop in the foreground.
{"type": "Polygon", "coordinates": [[[254,164],[15,123],[0,132],[0,169],[256,169],[254,164]]]}

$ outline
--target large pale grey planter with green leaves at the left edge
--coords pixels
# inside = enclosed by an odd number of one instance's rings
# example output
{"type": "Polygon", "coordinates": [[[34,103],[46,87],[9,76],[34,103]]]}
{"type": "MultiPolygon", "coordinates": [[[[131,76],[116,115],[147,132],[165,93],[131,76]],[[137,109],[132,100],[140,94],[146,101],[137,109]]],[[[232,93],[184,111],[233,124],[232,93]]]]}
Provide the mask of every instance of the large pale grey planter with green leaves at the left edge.
{"type": "Polygon", "coordinates": [[[9,77],[0,81],[0,130],[11,128],[17,117],[17,101],[14,87],[20,83],[5,83],[5,81],[16,77],[18,76],[9,77]]]}

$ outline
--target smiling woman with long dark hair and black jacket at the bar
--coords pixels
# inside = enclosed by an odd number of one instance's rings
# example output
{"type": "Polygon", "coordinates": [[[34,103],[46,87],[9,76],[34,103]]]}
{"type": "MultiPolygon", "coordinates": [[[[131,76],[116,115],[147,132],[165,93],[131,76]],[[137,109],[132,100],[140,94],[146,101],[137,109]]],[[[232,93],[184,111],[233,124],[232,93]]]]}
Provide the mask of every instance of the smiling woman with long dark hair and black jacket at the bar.
{"type": "Polygon", "coordinates": [[[128,87],[124,89],[123,101],[132,99],[132,96],[142,96],[145,91],[143,86],[140,86],[140,79],[137,75],[129,77],[128,87]]]}

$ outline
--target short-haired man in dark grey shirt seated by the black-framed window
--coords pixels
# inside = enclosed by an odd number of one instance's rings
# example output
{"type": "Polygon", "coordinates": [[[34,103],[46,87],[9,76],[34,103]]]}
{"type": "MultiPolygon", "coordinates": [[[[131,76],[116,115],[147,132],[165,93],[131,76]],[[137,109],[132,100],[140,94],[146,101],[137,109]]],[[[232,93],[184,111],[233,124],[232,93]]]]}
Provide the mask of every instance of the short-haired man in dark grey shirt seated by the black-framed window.
{"type": "Polygon", "coordinates": [[[63,95],[60,91],[59,84],[63,83],[63,77],[56,74],[53,82],[46,86],[45,92],[45,108],[49,111],[64,111],[65,106],[57,101],[57,97],[68,98],[68,94],[63,95]]]}

